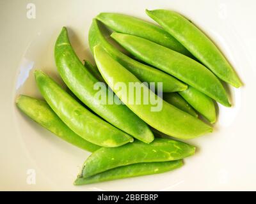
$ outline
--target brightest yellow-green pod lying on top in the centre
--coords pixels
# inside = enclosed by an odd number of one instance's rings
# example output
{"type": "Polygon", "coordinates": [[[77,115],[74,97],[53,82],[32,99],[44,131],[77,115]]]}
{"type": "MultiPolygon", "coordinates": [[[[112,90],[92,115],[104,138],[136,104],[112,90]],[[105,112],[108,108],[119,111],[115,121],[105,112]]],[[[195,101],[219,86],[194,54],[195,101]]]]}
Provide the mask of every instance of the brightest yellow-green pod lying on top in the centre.
{"type": "MultiPolygon", "coordinates": [[[[116,62],[100,45],[94,47],[94,57],[102,77],[116,93],[116,96],[132,112],[136,113],[153,128],[167,135],[182,139],[195,138],[212,131],[212,128],[201,120],[179,110],[179,108],[170,105],[159,96],[156,96],[154,92],[150,91],[131,72],[116,62]],[[140,88],[144,91],[141,91],[140,95],[135,91],[133,95],[127,96],[125,91],[120,91],[120,83],[123,87],[128,87],[128,89],[131,84],[140,85],[140,88]],[[148,98],[149,102],[154,100],[154,105],[148,103],[148,101],[144,103],[145,98],[148,98]],[[143,103],[138,103],[139,101],[143,103]]],[[[128,90],[127,92],[130,91],[128,90]]]]}

